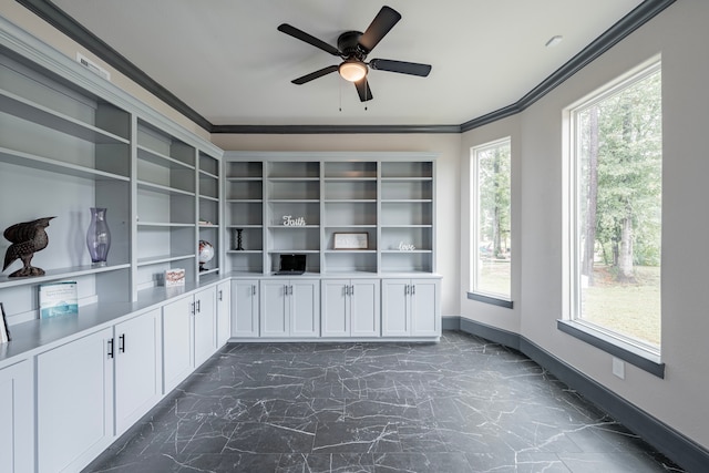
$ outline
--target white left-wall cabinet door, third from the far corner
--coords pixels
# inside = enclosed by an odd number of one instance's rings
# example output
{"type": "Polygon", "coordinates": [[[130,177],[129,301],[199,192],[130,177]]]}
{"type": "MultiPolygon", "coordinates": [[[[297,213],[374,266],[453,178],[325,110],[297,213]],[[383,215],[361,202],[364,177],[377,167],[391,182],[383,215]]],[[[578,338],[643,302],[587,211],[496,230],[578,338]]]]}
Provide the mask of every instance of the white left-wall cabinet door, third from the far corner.
{"type": "Polygon", "coordinates": [[[192,372],[192,297],[163,306],[163,394],[192,372]]]}

